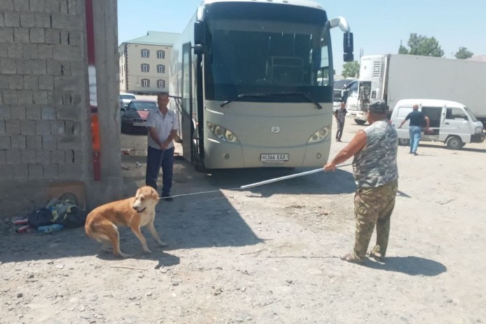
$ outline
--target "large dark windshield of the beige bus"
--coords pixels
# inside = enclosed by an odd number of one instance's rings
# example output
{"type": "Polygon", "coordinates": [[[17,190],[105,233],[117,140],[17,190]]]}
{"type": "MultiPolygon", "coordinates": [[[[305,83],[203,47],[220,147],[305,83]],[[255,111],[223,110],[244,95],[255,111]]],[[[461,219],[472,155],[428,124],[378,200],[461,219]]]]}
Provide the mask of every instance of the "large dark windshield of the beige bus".
{"type": "MultiPolygon", "coordinates": [[[[248,92],[301,92],[315,101],[331,101],[331,45],[329,31],[323,37],[323,25],[210,21],[206,98],[224,101],[248,92]]],[[[258,100],[308,101],[301,96],[258,100]]]]}

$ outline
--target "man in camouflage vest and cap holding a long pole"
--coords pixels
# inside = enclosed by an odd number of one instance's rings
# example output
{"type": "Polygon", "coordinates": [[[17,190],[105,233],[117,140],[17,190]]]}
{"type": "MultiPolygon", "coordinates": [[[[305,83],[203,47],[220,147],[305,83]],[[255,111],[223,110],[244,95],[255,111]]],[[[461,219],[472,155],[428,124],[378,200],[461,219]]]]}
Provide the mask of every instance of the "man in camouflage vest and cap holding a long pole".
{"type": "Polygon", "coordinates": [[[387,252],[390,218],[398,190],[398,136],[389,124],[386,112],[385,101],[370,104],[370,126],[357,132],[348,146],[324,165],[324,171],[335,171],[336,164],[354,156],[352,169],[357,186],[355,248],[352,253],[341,258],[348,262],[364,262],[375,227],[376,245],[369,255],[376,260],[383,260],[387,252]]]}

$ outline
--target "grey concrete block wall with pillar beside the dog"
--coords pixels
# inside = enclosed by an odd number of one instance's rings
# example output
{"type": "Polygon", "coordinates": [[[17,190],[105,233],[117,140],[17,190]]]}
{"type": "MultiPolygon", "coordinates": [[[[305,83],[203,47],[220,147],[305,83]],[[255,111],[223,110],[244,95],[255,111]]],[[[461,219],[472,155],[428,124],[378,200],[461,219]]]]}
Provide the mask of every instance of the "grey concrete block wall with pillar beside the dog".
{"type": "Polygon", "coordinates": [[[45,206],[52,183],[85,183],[90,209],[121,195],[116,0],[93,2],[101,181],[92,171],[85,1],[0,1],[0,218],[45,206]]]}

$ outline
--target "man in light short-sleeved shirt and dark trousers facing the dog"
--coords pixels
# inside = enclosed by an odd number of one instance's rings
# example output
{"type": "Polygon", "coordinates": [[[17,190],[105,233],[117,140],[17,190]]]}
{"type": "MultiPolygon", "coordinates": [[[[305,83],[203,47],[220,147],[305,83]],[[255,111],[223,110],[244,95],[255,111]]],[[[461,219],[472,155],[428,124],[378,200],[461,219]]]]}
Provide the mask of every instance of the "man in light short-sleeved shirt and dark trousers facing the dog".
{"type": "Polygon", "coordinates": [[[157,178],[162,167],[162,195],[165,200],[172,202],[171,188],[174,164],[174,143],[177,136],[179,122],[177,114],[169,110],[169,94],[162,92],[157,95],[157,111],[150,111],[147,118],[148,150],[147,171],[145,185],[157,190],[157,178]]]}

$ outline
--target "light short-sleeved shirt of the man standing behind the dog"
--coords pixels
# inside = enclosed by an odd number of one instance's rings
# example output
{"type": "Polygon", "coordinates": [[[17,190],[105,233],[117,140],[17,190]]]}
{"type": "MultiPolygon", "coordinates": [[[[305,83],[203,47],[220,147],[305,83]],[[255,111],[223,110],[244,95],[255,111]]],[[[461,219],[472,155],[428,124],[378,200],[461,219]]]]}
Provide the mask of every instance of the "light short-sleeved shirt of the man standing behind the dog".
{"type": "MultiPolygon", "coordinates": [[[[171,134],[173,129],[179,129],[179,122],[177,118],[177,113],[175,111],[171,111],[170,109],[167,111],[166,115],[162,115],[162,113],[157,109],[157,111],[150,111],[147,117],[147,127],[155,127],[155,132],[159,135],[159,141],[162,143],[171,134]]],[[[150,132],[148,133],[148,146],[151,148],[157,148],[160,150],[159,144],[157,144],[150,132]]],[[[171,141],[167,148],[173,148],[174,143],[171,141]]]]}

